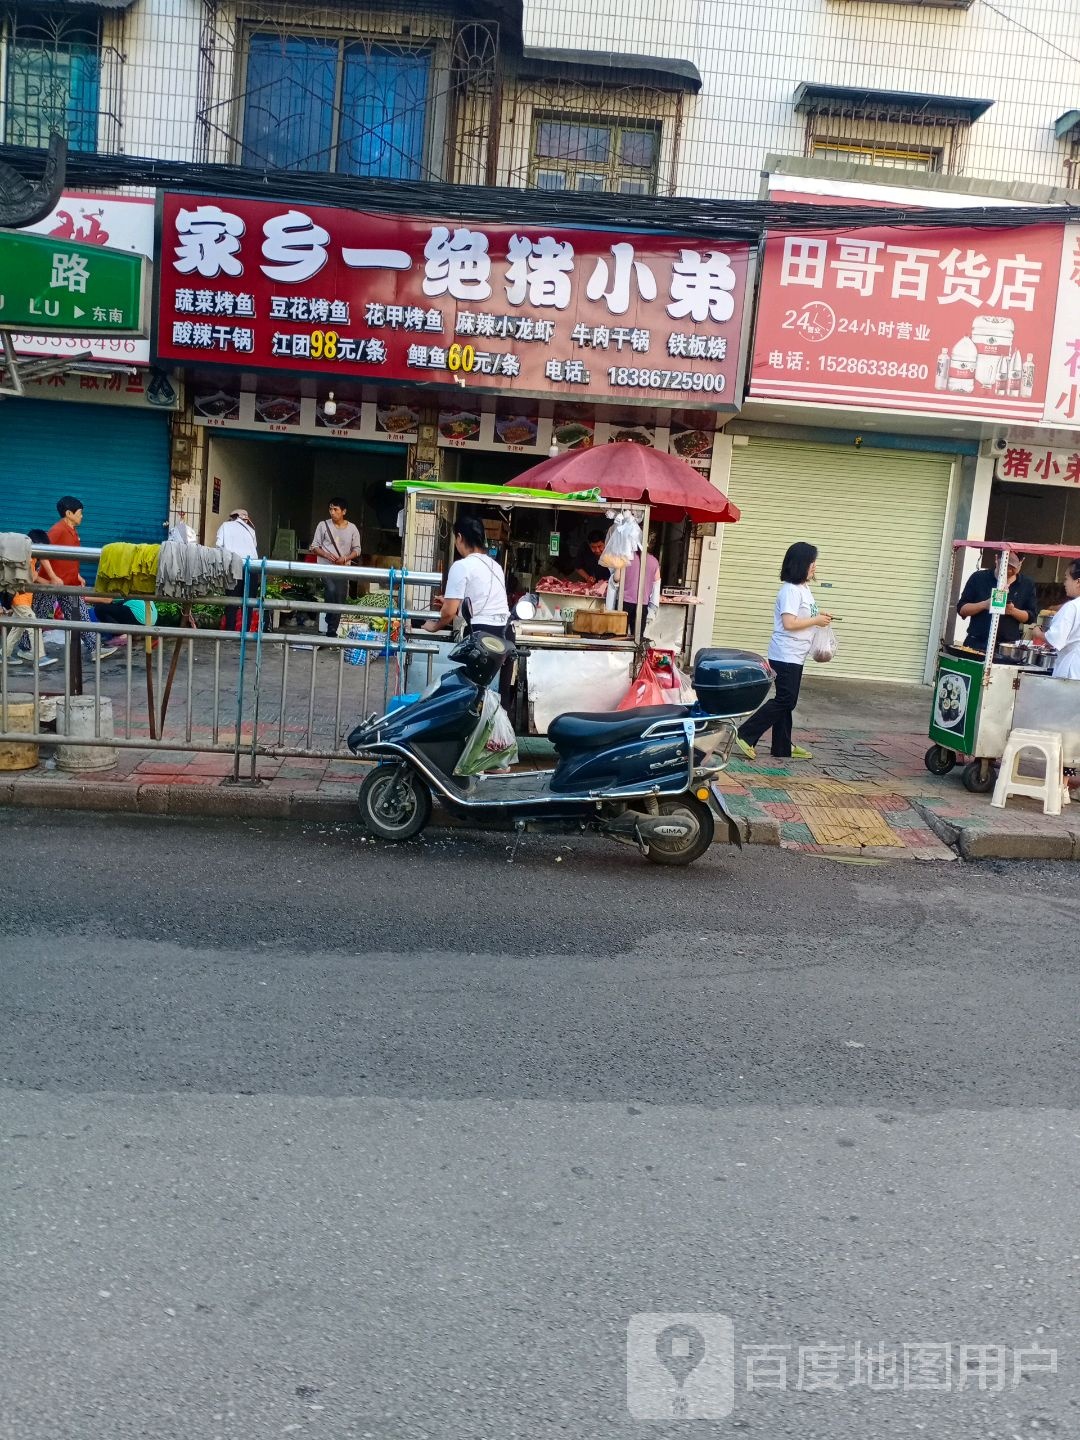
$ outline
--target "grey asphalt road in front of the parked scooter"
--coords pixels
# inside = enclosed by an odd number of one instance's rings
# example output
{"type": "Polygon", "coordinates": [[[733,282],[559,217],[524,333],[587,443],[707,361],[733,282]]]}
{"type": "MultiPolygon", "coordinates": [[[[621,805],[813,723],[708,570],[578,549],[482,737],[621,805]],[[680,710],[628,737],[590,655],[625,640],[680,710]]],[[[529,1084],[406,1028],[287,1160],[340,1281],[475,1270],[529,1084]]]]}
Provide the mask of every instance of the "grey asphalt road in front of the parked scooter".
{"type": "Polygon", "coordinates": [[[4,1440],[1080,1431],[1074,867],[1,819],[4,1440]]]}

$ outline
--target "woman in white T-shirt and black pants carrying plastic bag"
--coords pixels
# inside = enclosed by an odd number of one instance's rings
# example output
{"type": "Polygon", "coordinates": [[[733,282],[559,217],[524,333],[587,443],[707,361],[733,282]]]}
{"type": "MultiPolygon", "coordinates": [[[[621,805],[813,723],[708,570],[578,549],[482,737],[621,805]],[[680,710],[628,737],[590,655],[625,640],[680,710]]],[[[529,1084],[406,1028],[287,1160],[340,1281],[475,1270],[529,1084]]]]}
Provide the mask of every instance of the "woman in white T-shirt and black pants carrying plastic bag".
{"type": "Polygon", "coordinates": [[[791,719],[799,701],[802,667],[815,626],[829,625],[831,615],[819,613],[808,580],[814,579],[818,547],[799,540],[788,549],[780,566],[780,593],[776,596],[769,664],[776,671],[776,691],[756,714],[739,727],[736,744],[747,760],[756,760],[755,746],[772,730],[772,753],[778,760],[809,760],[809,750],[791,743],[791,719]]]}

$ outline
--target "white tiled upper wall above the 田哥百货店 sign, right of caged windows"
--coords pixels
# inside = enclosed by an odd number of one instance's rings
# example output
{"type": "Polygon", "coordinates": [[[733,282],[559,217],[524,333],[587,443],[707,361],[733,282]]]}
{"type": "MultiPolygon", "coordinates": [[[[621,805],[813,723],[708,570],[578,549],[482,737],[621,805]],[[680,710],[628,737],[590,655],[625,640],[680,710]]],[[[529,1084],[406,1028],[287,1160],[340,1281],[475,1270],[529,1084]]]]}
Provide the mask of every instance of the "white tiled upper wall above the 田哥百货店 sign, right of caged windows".
{"type": "MultiPolygon", "coordinates": [[[[972,125],[963,173],[1061,184],[1054,121],[1077,104],[1080,9],[1009,0],[1012,22],[876,0],[527,0],[526,43],[693,60],[680,190],[752,197],[769,151],[804,154],[802,81],[994,99],[972,125]],[[553,36],[559,39],[554,40],[553,36]]],[[[870,127],[871,138],[880,134],[870,127]]]]}

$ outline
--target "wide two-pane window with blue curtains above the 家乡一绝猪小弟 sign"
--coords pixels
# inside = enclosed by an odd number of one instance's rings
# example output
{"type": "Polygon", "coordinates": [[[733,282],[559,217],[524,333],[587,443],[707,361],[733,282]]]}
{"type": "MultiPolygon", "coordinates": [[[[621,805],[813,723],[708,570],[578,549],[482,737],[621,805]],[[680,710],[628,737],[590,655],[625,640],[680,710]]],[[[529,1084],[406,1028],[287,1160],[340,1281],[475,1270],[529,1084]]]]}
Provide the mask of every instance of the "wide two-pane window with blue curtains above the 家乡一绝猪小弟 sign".
{"type": "Polygon", "coordinates": [[[249,36],[240,163],[419,180],[431,60],[425,49],[249,36]]]}

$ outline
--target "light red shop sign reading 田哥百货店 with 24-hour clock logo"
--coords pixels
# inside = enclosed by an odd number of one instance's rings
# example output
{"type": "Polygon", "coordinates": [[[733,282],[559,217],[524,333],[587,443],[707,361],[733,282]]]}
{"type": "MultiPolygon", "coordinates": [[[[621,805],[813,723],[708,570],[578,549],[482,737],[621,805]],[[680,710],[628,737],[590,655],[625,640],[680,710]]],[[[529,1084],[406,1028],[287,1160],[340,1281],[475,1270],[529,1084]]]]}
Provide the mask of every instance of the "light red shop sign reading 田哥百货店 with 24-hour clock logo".
{"type": "Polygon", "coordinates": [[[766,243],[753,399],[1043,419],[1060,225],[766,243]]]}

